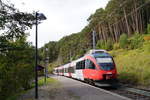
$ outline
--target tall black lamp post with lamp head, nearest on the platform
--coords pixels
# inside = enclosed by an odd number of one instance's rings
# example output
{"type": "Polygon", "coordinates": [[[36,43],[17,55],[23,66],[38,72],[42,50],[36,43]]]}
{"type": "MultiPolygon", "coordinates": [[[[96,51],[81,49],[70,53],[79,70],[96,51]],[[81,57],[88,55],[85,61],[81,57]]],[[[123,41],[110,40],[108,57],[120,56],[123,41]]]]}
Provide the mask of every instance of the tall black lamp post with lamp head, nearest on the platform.
{"type": "Polygon", "coordinates": [[[42,13],[35,13],[35,99],[38,99],[38,21],[46,20],[46,17],[42,13]]]}

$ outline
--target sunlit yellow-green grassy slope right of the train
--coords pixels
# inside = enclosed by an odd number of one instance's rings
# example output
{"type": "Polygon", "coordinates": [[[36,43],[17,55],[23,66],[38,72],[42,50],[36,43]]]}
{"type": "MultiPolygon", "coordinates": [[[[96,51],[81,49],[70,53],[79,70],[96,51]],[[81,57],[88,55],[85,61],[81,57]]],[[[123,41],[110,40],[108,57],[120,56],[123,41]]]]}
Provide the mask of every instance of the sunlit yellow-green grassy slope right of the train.
{"type": "Polygon", "coordinates": [[[114,56],[120,81],[138,86],[150,85],[150,41],[135,50],[118,49],[110,53],[114,56]]]}

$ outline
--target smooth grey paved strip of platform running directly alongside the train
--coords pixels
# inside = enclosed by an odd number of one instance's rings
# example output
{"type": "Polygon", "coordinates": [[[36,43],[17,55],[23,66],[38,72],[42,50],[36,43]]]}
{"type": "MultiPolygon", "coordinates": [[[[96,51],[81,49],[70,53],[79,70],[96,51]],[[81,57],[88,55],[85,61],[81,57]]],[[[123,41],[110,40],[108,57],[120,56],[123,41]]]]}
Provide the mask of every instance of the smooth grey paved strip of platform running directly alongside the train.
{"type": "Polygon", "coordinates": [[[65,91],[69,91],[79,97],[78,100],[128,100],[128,98],[109,93],[80,81],[76,81],[63,76],[53,76],[63,85],[65,91]]]}

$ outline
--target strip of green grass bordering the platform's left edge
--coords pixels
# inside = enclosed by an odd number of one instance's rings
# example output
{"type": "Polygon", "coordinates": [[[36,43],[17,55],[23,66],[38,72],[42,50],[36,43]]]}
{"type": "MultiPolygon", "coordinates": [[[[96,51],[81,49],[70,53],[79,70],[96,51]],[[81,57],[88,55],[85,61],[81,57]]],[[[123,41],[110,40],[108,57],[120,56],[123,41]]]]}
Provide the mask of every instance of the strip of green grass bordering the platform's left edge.
{"type": "MultiPolygon", "coordinates": [[[[44,77],[38,80],[38,86],[43,86],[43,85],[48,85],[48,84],[57,84],[58,81],[53,79],[53,78],[47,78],[46,79],[46,83],[45,83],[45,79],[44,77]]],[[[34,83],[31,84],[31,89],[34,88],[34,83]]],[[[29,89],[30,90],[30,89],[29,89]]],[[[22,95],[25,94],[26,92],[28,92],[29,90],[23,90],[21,93],[18,93],[16,95],[13,95],[11,97],[9,97],[7,100],[17,100],[17,98],[22,95]]]]}

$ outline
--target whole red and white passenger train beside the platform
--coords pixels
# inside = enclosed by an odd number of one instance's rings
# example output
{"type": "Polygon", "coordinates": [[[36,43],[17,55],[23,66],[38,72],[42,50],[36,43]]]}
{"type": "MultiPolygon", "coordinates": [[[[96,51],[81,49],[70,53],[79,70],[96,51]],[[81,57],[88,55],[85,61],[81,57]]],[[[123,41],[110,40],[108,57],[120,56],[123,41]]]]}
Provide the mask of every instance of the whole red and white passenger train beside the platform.
{"type": "Polygon", "coordinates": [[[90,50],[85,56],[55,68],[54,74],[82,80],[92,85],[117,84],[115,62],[105,50],[90,50]]]}

